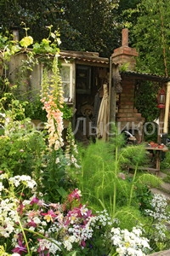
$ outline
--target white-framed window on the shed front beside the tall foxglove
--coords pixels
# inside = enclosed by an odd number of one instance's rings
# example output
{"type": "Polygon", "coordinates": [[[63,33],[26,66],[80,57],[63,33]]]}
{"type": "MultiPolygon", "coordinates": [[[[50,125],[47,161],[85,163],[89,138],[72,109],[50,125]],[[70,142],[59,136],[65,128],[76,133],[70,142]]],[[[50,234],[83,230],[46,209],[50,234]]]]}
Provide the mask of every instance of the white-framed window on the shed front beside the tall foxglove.
{"type": "Polygon", "coordinates": [[[72,100],[72,65],[62,64],[60,68],[60,76],[62,81],[62,86],[64,90],[65,102],[71,102],[72,100]]]}

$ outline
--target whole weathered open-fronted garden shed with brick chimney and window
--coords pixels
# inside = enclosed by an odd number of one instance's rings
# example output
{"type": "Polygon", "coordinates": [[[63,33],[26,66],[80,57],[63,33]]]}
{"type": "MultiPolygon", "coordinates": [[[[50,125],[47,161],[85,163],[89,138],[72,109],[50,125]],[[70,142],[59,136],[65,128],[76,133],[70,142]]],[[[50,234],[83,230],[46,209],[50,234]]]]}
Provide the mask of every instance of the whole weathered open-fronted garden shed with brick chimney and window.
{"type": "MultiPolygon", "coordinates": [[[[135,107],[135,96],[144,81],[156,83],[167,91],[166,108],[161,109],[162,133],[167,133],[170,78],[136,73],[138,55],[136,49],[128,46],[127,29],[122,30],[122,45],[114,49],[111,58],[100,57],[96,52],[60,50],[59,71],[65,103],[73,110],[71,121],[78,141],[88,142],[95,136],[107,140],[110,124],[116,123],[118,131],[130,131],[140,142],[144,117],[135,107]]],[[[10,81],[18,79],[17,68],[25,58],[24,53],[11,58],[10,81]]],[[[41,83],[42,66],[36,65],[33,71],[27,72],[27,79],[20,79],[20,90],[31,91],[31,96],[35,96],[41,90],[41,83]]]]}

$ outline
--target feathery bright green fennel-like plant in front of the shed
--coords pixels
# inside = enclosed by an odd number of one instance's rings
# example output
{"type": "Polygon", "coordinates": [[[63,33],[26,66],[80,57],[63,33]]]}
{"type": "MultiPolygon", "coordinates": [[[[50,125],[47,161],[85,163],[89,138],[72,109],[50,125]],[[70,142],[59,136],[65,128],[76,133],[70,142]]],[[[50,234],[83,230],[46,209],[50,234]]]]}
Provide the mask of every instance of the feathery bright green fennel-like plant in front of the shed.
{"type": "Polygon", "coordinates": [[[144,145],[125,146],[122,134],[116,133],[110,142],[98,140],[81,154],[82,168],[71,175],[77,178],[77,186],[85,201],[90,201],[94,210],[106,209],[112,218],[122,212],[123,207],[129,214],[135,208],[133,222],[136,222],[141,214],[140,205],[147,204],[145,198],[143,202],[142,194],[149,195],[148,186],[160,184],[158,177],[139,171],[139,166],[147,163],[144,145]],[[134,166],[133,175],[127,173],[126,166],[129,165],[134,166]]]}

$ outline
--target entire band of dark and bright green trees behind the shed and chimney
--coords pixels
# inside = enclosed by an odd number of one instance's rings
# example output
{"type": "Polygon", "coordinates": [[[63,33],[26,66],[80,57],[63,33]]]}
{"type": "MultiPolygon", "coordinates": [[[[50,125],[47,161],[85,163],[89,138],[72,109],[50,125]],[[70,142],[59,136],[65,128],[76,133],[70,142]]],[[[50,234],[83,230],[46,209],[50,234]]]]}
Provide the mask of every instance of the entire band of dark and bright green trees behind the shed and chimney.
{"type": "Polygon", "coordinates": [[[139,51],[140,72],[168,76],[170,6],[165,0],[1,0],[0,32],[30,28],[35,41],[48,37],[47,26],[60,33],[60,49],[97,51],[109,57],[129,28],[129,45],[139,51]]]}

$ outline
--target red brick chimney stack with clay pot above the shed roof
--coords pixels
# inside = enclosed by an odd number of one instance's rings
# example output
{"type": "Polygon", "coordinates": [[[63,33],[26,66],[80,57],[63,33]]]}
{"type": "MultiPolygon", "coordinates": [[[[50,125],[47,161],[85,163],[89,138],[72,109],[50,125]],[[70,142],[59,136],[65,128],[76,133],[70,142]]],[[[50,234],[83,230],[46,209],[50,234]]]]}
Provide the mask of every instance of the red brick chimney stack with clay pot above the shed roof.
{"type": "Polygon", "coordinates": [[[128,64],[127,70],[133,71],[136,67],[136,60],[139,53],[136,49],[128,47],[128,29],[122,29],[122,46],[114,49],[113,54],[111,55],[112,63],[115,64],[128,64]]]}

